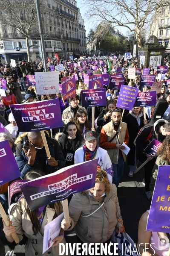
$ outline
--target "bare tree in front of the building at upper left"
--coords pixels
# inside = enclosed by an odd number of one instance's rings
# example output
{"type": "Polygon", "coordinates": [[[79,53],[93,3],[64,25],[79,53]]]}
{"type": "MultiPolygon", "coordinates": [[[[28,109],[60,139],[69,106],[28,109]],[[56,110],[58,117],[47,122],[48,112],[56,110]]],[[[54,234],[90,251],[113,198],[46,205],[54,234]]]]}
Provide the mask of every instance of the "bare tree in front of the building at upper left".
{"type": "MultiPolygon", "coordinates": [[[[45,6],[41,4],[41,12],[45,6]]],[[[39,36],[37,10],[35,0],[0,0],[0,33],[24,35],[26,37],[26,50],[30,61],[29,38],[39,36]],[[7,6],[4,8],[4,6],[7,6]]]]}

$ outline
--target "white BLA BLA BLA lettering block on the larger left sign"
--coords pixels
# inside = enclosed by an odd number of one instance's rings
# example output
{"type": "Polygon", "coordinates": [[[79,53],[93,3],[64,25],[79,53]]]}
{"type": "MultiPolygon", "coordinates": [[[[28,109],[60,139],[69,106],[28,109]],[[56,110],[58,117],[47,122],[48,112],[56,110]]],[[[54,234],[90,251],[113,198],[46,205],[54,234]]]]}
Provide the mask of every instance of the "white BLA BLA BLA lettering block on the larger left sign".
{"type": "Polygon", "coordinates": [[[22,117],[23,122],[33,122],[54,118],[54,113],[46,114],[45,109],[28,112],[29,117],[22,117]]]}

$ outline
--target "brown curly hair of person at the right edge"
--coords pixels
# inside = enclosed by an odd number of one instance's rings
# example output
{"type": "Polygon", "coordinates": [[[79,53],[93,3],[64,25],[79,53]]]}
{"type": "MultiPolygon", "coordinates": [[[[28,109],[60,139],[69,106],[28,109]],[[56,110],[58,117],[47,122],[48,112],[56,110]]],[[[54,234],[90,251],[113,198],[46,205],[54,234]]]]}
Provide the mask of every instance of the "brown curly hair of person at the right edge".
{"type": "Polygon", "coordinates": [[[166,136],[161,147],[158,148],[157,155],[168,164],[170,163],[170,135],[166,136]]]}

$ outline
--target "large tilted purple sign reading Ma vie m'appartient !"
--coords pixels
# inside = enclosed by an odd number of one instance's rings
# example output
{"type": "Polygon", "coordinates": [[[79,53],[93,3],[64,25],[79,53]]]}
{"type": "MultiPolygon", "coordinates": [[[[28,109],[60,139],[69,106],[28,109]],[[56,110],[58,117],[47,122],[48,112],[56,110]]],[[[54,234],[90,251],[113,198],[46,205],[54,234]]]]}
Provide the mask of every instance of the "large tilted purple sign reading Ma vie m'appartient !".
{"type": "Polygon", "coordinates": [[[40,208],[50,203],[65,200],[95,185],[98,159],[71,165],[21,185],[21,191],[29,209],[40,208]]]}

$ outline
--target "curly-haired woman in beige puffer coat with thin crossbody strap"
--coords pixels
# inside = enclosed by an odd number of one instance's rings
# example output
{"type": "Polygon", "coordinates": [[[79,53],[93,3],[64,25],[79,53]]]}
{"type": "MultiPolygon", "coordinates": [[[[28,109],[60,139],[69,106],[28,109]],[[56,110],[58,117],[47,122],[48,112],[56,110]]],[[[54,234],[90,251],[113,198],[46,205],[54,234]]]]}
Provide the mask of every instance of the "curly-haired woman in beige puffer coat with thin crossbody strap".
{"type": "Polygon", "coordinates": [[[122,218],[117,188],[109,183],[107,172],[98,167],[95,187],[72,197],[69,203],[70,224],[63,219],[61,227],[74,227],[78,243],[107,243],[116,228],[122,232],[122,218]]]}

